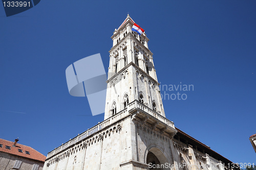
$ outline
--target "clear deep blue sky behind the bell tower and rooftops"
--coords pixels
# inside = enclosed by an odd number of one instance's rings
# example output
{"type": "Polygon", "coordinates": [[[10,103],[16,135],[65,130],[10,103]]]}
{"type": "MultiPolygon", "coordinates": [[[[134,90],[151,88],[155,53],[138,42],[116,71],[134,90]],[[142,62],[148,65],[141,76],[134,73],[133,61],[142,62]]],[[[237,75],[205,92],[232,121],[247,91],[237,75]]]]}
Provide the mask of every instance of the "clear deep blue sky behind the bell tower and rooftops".
{"type": "Polygon", "coordinates": [[[193,84],[164,100],[175,126],[233,162],[256,163],[256,1],[41,1],[6,17],[0,5],[0,138],[47,155],[103,120],[68,92],[65,70],[100,53],[127,12],[150,39],[161,84],[193,84]],[[166,2],[166,3],[165,3],[166,2]],[[22,113],[15,113],[22,112],[22,113]]]}

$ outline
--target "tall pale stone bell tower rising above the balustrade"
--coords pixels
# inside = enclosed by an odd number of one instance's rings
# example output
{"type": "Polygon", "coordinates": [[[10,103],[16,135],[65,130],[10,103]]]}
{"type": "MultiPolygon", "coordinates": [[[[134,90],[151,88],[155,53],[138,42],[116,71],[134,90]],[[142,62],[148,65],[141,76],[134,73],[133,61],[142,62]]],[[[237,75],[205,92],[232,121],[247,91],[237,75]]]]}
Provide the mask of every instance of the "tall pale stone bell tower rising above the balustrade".
{"type": "Polygon", "coordinates": [[[132,31],[134,23],[128,15],[111,37],[104,119],[135,100],[165,117],[153,53],[147,45],[149,39],[145,33],[138,35],[132,31]]]}

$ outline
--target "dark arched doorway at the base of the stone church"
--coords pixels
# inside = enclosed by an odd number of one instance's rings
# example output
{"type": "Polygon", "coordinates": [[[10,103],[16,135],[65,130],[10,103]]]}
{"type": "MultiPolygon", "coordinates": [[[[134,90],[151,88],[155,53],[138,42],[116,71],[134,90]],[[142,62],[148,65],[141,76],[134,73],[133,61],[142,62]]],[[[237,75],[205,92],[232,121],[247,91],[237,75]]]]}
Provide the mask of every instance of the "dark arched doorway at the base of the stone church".
{"type": "Polygon", "coordinates": [[[169,169],[165,165],[169,165],[166,157],[158,148],[151,148],[146,155],[146,163],[151,165],[150,170],[169,169]]]}

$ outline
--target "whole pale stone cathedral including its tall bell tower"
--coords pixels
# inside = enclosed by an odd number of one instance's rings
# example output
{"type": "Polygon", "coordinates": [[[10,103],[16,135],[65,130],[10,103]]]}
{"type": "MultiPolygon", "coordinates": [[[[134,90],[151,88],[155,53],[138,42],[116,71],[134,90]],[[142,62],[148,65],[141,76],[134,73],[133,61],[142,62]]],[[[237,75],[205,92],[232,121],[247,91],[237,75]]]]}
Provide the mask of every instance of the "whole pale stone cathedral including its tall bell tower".
{"type": "Polygon", "coordinates": [[[165,117],[153,53],[128,15],[110,50],[103,122],[49,152],[44,170],[232,169],[165,117]]]}

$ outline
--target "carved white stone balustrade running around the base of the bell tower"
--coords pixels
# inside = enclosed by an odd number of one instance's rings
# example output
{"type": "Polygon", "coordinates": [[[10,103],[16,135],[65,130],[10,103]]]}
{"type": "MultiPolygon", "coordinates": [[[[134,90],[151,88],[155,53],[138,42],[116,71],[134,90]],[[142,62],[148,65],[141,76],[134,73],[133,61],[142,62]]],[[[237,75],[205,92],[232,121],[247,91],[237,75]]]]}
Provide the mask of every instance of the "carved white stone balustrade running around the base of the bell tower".
{"type": "Polygon", "coordinates": [[[52,157],[53,155],[56,155],[57,153],[60,153],[61,151],[65,150],[65,149],[67,149],[71,145],[73,145],[73,144],[75,144],[75,143],[77,143],[77,142],[79,142],[79,141],[81,141],[85,138],[88,138],[88,137],[92,136],[93,134],[102,130],[103,128],[108,127],[108,126],[112,125],[115,122],[118,122],[118,120],[120,120],[121,118],[128,116],[130,114],[129,113],[130,110],[136,109],[136,108],[152,115],[153,117],[157,118],[158,120],[160,120],[164,124],[166,124],[169,127],[172,127],[172,128],[175,129],[174,123],[172,121],[168,120],[167,118],[165,118],[164,116],[155,112],[154,110],[150,109],[149,107],[141,104],[139,101],[135,100],[132,103],[128,104],[126,109],[121,110],[120,112],[118,112],[114,116],[111,116],[108,119],[105,119],[103,122],[99,123],[98,125],[88,129],[87,131],[85,131],[82,134],[74,137],[73,139],[69,140],[68,142],[66,142],[64,144],[61,144],[60,147],[58,147],[58,148],[54,149],[53,151],[49,152],[48,155],[47,155],[47,159],[52,157]]]}

